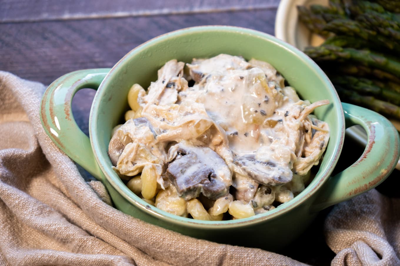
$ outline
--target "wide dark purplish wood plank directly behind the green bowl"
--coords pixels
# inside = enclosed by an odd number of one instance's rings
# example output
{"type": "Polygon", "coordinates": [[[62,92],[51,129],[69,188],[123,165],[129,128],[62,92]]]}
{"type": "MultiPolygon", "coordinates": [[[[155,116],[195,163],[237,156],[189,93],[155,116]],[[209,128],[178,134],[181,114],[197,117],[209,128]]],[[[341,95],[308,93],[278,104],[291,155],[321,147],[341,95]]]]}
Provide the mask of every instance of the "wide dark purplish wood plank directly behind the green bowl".
{"type": "Polygon", "coordinates": [[[0,69],[50,84],[70,71],[112,67],[160,34],[199,25],[232,25],[274,34],[276,9],[0,24],[0,69]]]}

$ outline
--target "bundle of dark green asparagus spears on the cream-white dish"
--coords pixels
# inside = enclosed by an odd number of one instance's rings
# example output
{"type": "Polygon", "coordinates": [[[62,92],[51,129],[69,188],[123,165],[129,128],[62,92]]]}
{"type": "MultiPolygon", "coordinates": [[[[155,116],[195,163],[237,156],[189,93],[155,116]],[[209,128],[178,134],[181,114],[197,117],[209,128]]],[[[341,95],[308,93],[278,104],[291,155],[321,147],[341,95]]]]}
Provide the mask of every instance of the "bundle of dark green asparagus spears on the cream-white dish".
{"type": "Polygon", "coordinates": [[[304,52],[339,97],[400,119],[400,1],[330,0],[298,12],[311,32],[326,38],[304,52]]]}

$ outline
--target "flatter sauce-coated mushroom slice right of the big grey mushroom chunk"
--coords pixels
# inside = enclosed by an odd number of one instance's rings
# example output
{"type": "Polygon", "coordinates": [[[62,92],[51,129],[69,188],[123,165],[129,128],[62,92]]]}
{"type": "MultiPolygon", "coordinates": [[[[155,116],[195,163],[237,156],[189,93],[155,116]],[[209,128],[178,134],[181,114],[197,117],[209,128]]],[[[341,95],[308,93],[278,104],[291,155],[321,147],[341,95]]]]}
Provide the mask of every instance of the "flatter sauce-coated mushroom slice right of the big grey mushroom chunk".
{"type": "Polygon", "coordinates": [[[250,178],[263,185],[284,185],[292,180],[293,173],[288,167],[284,169],[273,162],[258,161],[252,154],[246,154],[236,159],[235,163],[241,167],[250,178]]]}

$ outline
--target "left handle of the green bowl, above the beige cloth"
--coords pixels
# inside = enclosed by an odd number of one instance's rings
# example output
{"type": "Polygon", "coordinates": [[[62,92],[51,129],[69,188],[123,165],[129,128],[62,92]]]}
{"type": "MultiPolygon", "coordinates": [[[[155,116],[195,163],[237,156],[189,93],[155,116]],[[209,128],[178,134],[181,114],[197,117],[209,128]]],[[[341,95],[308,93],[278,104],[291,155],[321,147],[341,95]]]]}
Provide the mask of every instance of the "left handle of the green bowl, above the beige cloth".
{"type": "Polygon", "coordinates": [[[110,69],[84,69],[68,73],[46,89],[40,104],[40,120],[48,136],[72,160],[98,180],[103,173],[98,166],[90,140],[72,115],[72,98],[80,89],[98,89],[110,69]]]}

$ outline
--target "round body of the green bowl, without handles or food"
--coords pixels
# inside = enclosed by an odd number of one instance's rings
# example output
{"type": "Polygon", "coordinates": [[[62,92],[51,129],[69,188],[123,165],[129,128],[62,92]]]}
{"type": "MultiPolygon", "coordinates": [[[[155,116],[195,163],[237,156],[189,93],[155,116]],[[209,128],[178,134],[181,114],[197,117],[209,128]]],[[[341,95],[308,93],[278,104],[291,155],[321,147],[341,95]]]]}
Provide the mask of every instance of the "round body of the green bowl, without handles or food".
{"type": "Polygon", "coordinates": [[[118,209],[143,221],[190,236],[269,250],[276,250],[296,238],[314,218],[315,213],[309,211],[310,205],[316,190],[332,173],[344,137],[344,116],[338,95],[323,71],[310,58],[271,35],[228,26],[195,27],[167,33],[130,51],[100,85],[89,124],[96,160],[106,176],[104,183],[118,209]],[[315,114],[328,122],[330,140],[313,181],[291,201],[268,213],[246,219],[198,221],[161,211],[134,195],[112,170],[107,150],[111,130],[122,122],[121,118],[128,108],[126,98],[134,83],[148,87],[151,81],[157,79],[157,70],[171,59],[191,62],[193,58],[212,57],[220,53],[267,61],[282,73],[302,99],[311,102],[328,99],[330,104],[317,108],[315,114]],[[254,237],[249,237],[249,234],[254,237]]]}

